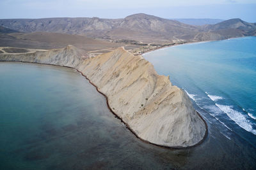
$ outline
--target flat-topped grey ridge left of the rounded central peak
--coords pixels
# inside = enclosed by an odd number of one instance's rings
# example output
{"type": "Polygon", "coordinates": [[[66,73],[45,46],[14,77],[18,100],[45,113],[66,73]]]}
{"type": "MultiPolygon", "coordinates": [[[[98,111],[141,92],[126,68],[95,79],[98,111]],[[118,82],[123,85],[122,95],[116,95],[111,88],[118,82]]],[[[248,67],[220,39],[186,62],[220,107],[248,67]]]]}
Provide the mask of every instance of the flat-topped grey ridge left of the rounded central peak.
{"type": "Polygon", "coordinates": [[[118,20],[93,18],[40,18],[40,19],[2,19],[0,25],[15,28],[20,32],[59,32],[84,34],[87,31],[111,29],[118,20]]]}

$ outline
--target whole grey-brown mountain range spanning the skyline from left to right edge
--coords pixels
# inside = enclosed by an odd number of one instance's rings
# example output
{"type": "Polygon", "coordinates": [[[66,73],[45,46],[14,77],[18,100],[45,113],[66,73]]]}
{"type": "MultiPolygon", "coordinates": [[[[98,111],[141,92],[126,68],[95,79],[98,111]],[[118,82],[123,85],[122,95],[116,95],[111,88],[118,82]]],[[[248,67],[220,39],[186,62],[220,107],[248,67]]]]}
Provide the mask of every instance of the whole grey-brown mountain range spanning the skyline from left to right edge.
{"type": "Polygon", "coordinates": [[[120,19],[2,19],[0,25],[20,32],[58,32],[118,42],[157,45],[255,35],[255,24],[231,19],[213,25],[188,25],[143,13],[120,19]]]}

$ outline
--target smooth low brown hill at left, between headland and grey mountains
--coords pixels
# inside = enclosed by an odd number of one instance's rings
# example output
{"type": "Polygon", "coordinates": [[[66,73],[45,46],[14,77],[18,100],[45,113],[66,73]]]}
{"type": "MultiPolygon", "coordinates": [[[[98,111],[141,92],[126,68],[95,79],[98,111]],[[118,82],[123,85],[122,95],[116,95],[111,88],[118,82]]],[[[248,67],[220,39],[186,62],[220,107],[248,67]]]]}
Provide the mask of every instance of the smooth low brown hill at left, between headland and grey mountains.
{"type": "MultiPolygon", "coordinates": [[[[55,32],[31,32],[0,34],[0,46],[13,46],[20,48],[52,49],[74,45],[86,52],[103,53],[125,46],[122,43],[111,43],[85,36],[63,34],[55,32]]],[[[129,45],[126,49],[131,49],[129,45]]]]}

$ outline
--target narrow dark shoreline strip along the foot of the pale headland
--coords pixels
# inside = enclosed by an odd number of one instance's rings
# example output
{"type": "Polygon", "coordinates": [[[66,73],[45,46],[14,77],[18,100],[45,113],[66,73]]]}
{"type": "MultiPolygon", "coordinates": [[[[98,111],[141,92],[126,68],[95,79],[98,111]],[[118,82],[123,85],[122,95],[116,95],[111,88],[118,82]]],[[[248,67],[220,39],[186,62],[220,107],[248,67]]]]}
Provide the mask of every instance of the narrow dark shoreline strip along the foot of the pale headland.
{"type": "Polygon", "coordinates": [[[70,69],[74,69],[76,70],[78,73],[80,73],[82,76],[84,76],[84,78],[86,78],[86,80],[88,80],[88,82],[93,85],[95,87],[95,89],[97,90],[97,92],[99,92],[100,94],[102,94],[102,96],[105,97],[106,99],[106,104],[108,106],[108,109],[109,111],[111,111],[111,113],[113,113],[113,115],[115,115],[116,118],[118,118],[119,120],[121,120],[122,123],[125,124],[125,127],[130,131],[132,132],[132,134],[134,134],[134,136],[136,136],[136,138],[140,139],[141,141],[145,142],[145,143],[148,143],[150,145],[154,145],[154,146],[158,146],[158,147],[161,147],[161,148],[168,148],[168,149],[179,149],[179,150],[182,150],[182,149],[187,149],[187,148],[193,148],[195,146],[198,146],[200,144],[202,144],[205,139],[207,138],[208,134],[209,134],[209,130],[208,130],[208,125],[206,123],[206,121],[204,120],[204,118],[200,115],[200,113],[198,113],[198,111],[196,111],[196,113],[198,114],[198,116],[201,118],[201,120],[203,120],[204,124],[205,124],[205,134],[204,134],[204,138],[202,138],[198,143],[196,143],[195,145],[192,145],[192,146],[186,146],[186,147],[183,147],[183,146],[165,146],[165,145],[157,145],[155,143],[151,143],[150,141],[147,141],[145,139],[142,139],[138,136],[138,134],[136,134],[136,132],[134,132],[131,127],[124,122],[124,120],[122,120],[122,118],[120,118],[116,113],[115,111],[113,111],[111,109],[111,107],[109,106],[109,101],[108,101],[108,96],[106,96],[105,94],[103,94],[102,92],[100,92],[100,90],[98,89],[97,85],[95,85],[94,83],[92,83],[92,81],[90,81],[87,76],[85,76],[83,73],[81,73],[81,71],[73,68],[73,67],[68,67],[68,66],[58,66],[58,65],[55,65],[55,64],[41,64],[41,63],[37,63],[37,62],[24,62],[24,61],[0,61],[0,62],[19,62],[19,63],[29,63],[29,64],[40,64],[40,65],[48,65],[48,66],[57,66],[57,67],[67,67],[67,68],[70,68],[70,69]]]}

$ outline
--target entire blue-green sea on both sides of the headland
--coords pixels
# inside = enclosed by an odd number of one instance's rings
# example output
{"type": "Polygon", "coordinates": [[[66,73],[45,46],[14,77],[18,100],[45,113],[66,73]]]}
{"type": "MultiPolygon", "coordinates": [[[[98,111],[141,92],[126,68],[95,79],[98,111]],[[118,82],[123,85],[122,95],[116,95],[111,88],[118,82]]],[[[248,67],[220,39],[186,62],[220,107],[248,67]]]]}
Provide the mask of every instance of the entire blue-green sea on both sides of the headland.
{"type": "Polygon", "coordinates": [[[248,37],[143,55],[208,125],[186,149],[136,138],[74,69],[0,62],[0,169],[255,169],[255,47],[248,37]]]}

